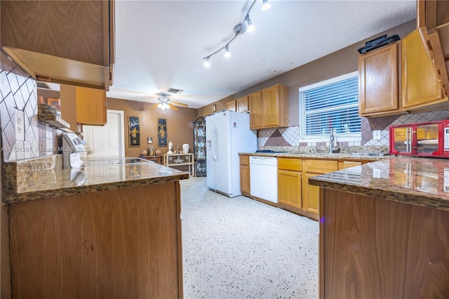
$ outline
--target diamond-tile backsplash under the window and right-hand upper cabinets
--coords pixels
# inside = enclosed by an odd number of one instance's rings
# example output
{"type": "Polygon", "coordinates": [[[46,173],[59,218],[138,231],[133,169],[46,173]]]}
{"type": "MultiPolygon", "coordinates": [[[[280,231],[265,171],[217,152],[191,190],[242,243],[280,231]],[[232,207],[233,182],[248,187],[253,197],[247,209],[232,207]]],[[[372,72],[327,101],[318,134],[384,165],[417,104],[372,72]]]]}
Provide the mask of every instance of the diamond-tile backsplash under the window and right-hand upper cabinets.
{"type": "MultiPolygon", "coordinates": [[[[361,118],[361,141],[339,142],[343,147],[360,146],[389,146],[389,126],[398,124],[412,124],[426,121],[438,121],[449,119],[449,109],[420,112],[413,114],[401,114],[391,117],[361,118]],[[381,139],[373,140],[373,130],[381,131],[381,139]]],[[[335,138],[338,142],[338,137],[335,138]]],[[[300,142],[299,126],[288,128],[272,128],[257,131],[257,148],[261,147],[324,147],[328,142],[300,142]]]]}

